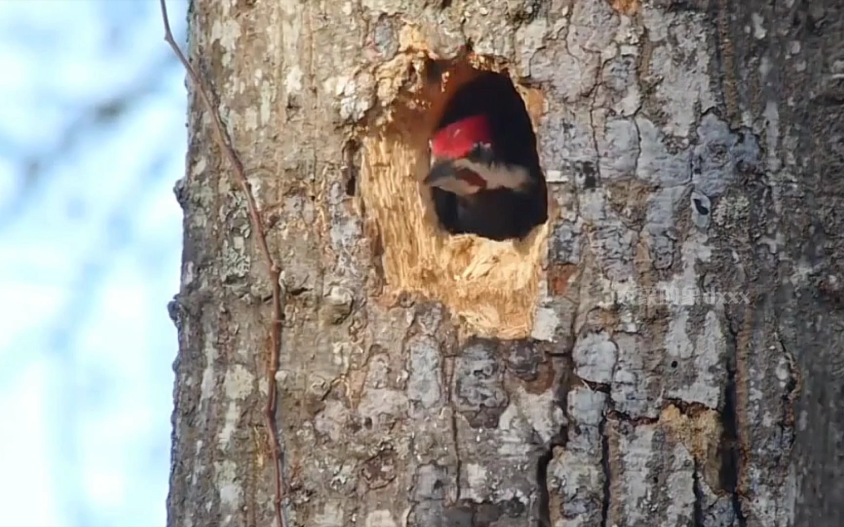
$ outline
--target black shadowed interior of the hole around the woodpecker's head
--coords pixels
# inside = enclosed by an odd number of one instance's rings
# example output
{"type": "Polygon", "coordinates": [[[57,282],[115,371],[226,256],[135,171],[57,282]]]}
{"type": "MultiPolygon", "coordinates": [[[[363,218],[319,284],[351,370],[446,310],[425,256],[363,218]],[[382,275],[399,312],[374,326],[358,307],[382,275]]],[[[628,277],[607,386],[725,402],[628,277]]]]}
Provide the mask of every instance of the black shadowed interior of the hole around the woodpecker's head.
{"type": "Polygon", "coordinates": [[[529,192],[495,189],[468,198],[432,188],[437,220],[451,234],[521,239],[548,219],[548,191],[530,116],[510,78],[483,72],[457,89],[446,103],[436,129],[478,114],[485,114],[490,120],[496,157],[530,169],[535,184],[529,192]]]}

